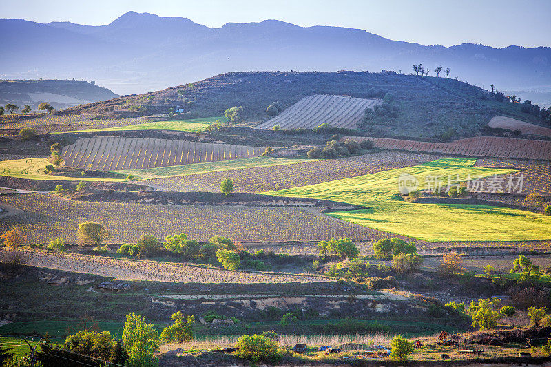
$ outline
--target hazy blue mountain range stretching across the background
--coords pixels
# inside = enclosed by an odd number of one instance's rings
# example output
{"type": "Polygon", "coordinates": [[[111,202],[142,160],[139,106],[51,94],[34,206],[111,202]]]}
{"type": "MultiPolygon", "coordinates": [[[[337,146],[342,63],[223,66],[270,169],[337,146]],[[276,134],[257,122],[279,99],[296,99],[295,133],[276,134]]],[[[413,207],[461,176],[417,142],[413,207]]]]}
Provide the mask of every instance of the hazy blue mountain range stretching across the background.
{"type": "MultiPolygon", "coordinates": [[[[365,30],[300,27],[282,21],[209,28],[180,17],[127,12],[108,25],[0,19],[0,78],[93,79],[119,94],[182,85],[251,70],[382,69],[410,74],[412,65],[450,67],[490,89],[551,92],[551,48],[419,45],[365,30]]],[[[506,34],[506,32],[504,32],[506,34]]],[[[444,76],[441,72],[440,76],[444,76]]]]}

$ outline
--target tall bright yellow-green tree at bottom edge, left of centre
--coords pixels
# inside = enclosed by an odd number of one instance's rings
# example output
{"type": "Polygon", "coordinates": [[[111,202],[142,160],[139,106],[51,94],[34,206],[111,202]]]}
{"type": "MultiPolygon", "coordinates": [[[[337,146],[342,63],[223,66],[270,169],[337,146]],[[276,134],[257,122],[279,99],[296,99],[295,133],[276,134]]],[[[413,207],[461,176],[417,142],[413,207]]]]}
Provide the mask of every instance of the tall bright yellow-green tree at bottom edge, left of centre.
{"type": "Polygon", "coordinates": [[[158,360],[153,357],[158,349],[158,333],[153,324],[146,324],[141,315],[131,313],[126,316],[123,329],[123,346],[128,352],[127,367],[156,367],[158,360]]]}

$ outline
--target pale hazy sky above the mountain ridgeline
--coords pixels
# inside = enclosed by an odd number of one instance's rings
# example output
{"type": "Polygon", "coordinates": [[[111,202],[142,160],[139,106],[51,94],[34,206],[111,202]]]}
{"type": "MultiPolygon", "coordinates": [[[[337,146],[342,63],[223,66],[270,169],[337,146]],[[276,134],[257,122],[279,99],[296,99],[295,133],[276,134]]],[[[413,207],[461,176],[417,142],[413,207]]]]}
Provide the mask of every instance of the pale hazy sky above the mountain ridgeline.
{"type": "Polygon", "coordinates": [[[551,0],[0,0],[0,17],[104,25],[129,10],[209,27],[278,19],[423,45],[551,46],[551,0]]]}

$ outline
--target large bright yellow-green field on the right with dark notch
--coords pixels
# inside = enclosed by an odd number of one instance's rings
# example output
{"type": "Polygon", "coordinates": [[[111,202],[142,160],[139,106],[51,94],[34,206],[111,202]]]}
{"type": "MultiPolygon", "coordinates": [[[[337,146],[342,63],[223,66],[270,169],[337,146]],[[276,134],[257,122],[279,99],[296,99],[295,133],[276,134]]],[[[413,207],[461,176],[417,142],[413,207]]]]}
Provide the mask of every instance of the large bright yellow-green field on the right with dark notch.
{"type": "Polygon", "coordinates": [[[392,169],[344,180],[271,191],[269,194],[334,200],[367,209],[329,214],[380,231],[428,242],[526,241],[551,239],[551,217],[505,207],[404,202],[398,194],[400,174],[410,174],[425,189],[428,178],[447,184],[514,172],[512,169],[472,167],[476,158],[441,159],[414,167],[392,169]]]}

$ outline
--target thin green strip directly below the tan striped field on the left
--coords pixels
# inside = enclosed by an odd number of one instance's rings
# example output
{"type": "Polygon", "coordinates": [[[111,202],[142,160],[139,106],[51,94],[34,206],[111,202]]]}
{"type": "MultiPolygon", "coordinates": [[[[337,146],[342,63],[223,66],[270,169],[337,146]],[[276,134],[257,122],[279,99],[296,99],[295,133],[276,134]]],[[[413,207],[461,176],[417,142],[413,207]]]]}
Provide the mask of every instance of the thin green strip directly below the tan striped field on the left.
{"type": "Polygon", "coordinates": [[[137,176],[138,178],[141,178],[142,180],[147,180],[150,178],[187,176],[193,174],[205,174],[207,172],[229,171],[230,169],[292,165],[294,163],[311,161],[312,159],[252,157],[233,160],[220,160],[218,162],[192,163],[190,165],[178,165],[146,169],[127,169],[124,171],[115,172],[125,175],[132,174],[134,176],[137,176]]]}

